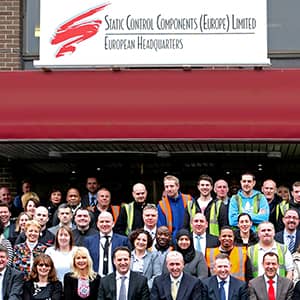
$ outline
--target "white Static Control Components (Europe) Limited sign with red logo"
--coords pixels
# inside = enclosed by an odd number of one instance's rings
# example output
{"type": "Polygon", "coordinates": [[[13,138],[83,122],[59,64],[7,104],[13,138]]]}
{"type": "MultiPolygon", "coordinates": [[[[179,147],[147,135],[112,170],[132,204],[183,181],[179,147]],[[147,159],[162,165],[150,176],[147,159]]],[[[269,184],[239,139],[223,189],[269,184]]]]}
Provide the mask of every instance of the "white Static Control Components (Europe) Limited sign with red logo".
{"type": "Polygon", "coordinates": [[[263,66],[266,0],[41,0],[36,67],[263,66]]]}

